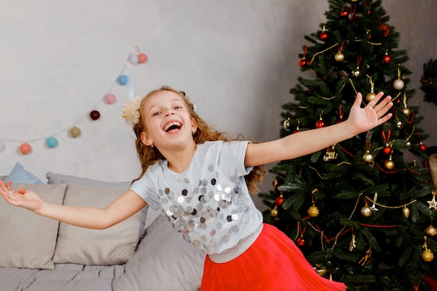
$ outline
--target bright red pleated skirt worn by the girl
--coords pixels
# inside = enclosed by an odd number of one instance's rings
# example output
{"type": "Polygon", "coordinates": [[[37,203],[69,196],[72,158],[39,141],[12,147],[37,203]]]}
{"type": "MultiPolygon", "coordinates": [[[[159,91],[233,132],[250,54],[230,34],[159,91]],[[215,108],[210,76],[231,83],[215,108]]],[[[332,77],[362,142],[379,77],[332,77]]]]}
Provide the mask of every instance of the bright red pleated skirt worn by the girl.
{"type": "Polygon", "coordinates": [[[319,276],[295,243],[264,224],[255,242],[229,262],[205,259],[202,291],[344,291],[343,283],[319,276]]]}

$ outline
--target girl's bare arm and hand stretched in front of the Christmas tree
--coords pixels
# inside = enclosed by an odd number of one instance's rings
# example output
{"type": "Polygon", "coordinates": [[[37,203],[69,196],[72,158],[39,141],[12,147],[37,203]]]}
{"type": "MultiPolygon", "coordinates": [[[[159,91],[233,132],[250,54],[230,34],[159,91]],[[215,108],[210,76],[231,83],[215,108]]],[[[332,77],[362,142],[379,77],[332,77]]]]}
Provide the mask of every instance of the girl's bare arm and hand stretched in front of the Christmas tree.
{"type": "Polygon", "coordinates": [[[339,124],[304,130],[271,142],[248,144],[244,163],[250,167],[305,156],[379,126],[392,117],[391,113],[387,114],[393,105],[390,96],[378,103],[383,95],[379,92],[362,108],[362,94],[358,93],[348,119],[339,124]]]}

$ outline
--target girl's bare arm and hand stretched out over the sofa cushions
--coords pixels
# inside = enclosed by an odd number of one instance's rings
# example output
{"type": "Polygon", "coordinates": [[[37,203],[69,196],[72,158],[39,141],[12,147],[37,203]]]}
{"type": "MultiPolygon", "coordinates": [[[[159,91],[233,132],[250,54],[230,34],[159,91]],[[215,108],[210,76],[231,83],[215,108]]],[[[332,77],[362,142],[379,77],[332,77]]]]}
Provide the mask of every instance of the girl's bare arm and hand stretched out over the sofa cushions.
{"type": "Polygon", "coordinates": [[[64,223],[94,229],[105,229],[115,225],[147,205],[135,192],[128,190],[104,209],[94,207],[71,207],[45,202],[34,193],[24,188],[14,191],[11,183],[0,181],[0,194],[13,206],[34,211],[40,216],[56,219],[64,223]]]}

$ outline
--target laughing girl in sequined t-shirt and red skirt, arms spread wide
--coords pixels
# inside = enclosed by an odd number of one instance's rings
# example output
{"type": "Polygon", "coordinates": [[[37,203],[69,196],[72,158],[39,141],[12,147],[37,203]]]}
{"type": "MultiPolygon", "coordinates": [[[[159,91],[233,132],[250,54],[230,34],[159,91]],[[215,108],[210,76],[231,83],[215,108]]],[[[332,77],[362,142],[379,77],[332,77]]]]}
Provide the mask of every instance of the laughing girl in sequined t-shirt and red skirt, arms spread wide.
{"type": "Polygon", "coordinates": [[[383,124],[392,116],[392,102],[387,96],[378,103],[382,97],[380,92],[361,108],[357,94],[340,124],[252,144],[212,130],[183,91],[161,87],[124,110],[138,137],[142,174],[105,209],[50,204],[32,191],[13,191],[10,181],[0,181],[0,193],[12,205],[94,229],[119,223],[147,204],[161,208],[186,241],[207,252],[202,291],[346,290],[318,276],[291,239],[262,223],[249,191],[262,181],[262,165],[311,154],[383,124]]]}

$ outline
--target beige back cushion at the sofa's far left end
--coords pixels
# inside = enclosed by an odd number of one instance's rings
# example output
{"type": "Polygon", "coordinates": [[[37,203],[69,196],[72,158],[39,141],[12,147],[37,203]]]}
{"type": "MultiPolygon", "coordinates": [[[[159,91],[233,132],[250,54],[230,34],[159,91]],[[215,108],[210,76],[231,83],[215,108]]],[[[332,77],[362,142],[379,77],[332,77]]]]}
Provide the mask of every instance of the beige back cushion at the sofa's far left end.
{"type": "MultiPolygon", "coordinates": [[[[24,187],[40,197],[62,204],[65,184],[13,184],[13,189],[24,187]]],[[[20,207],[10,206],[0,199],[0,267],[54,269],[52,260],[59,222],[38,216],[20,207]]]]}

